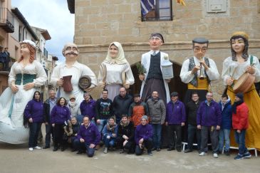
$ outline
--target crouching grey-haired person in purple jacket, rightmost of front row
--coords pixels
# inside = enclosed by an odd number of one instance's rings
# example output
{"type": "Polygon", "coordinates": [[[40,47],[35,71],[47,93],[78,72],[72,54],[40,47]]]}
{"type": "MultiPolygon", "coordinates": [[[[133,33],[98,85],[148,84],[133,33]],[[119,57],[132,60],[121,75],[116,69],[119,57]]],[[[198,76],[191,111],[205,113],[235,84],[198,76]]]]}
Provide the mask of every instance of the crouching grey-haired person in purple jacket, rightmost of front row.
{"type": "Polygon", "coordinates": [[[147,148],[147,154],[152,156],[152,125],[147,124],[148,117],[143,115],[141,124],[135,129],[135,154],[141,155],[144,147],[147,148]]]}

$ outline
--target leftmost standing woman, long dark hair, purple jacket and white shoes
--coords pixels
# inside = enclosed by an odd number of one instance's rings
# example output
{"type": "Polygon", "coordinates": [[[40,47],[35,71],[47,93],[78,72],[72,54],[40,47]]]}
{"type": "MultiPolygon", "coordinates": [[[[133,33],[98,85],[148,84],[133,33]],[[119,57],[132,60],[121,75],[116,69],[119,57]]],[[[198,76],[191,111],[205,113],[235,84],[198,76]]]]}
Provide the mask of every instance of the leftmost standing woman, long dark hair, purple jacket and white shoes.
{"type": "Polygon", "coordinates": [[[43,123],[43,102],[41,101],[41,93],[36,91],[33,94],[33,100],[30,100],[24,110],[24,115],[28,119],[28,125],[30,128],[29,135],[29,150],[41,149],[38,147],[37,139],[38,133],[41,129],[41,123],[43,123]]]}

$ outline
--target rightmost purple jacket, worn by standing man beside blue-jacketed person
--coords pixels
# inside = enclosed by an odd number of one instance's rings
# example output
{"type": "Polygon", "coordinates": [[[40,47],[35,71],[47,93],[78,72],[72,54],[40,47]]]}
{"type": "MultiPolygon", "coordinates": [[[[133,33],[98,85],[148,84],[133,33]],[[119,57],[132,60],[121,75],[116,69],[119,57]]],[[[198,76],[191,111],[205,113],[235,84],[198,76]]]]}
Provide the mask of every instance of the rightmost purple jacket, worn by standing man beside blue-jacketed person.
{"type": "Polygon", "coordinates": [[[219,103],[212,100],[207,105],[207,100],[200,103],[197,111],[197,125],[202,126],[217,126],[222,124],[222,111],[219,108],[219,103]]]}

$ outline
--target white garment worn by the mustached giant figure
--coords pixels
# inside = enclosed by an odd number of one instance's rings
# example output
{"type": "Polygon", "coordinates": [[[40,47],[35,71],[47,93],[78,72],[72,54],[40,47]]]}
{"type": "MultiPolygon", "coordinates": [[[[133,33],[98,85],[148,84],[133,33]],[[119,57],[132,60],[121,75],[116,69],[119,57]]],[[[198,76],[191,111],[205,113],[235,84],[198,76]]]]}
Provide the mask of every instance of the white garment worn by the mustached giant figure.
{"type": "Polygon", "coordinates": [[[71,66],[71,68],[68,68],[66,63],[57,65],[54,68],[53,73],[51,75],[51,84],[56,86],[57,80],[63,78],[63,76],[66,75],[72,75],[71,84],[73,90],[69,93],[66,93],[63,90],[63,87],[60,87],[57,92],[57,98],[63,97],[66,98],[66,100],[69,100],[70,95],[74,95],[76,97],[76,103],[78,103],[78,105],[80,105],[82,100],[84,100],[83,98],[84,91],[80,90],[80,88],[78,87],[78,80],[80,79],[80,77],[83,75],[88,75],[91,78],[90,88],[94,88],[96,85],[98,85],[98,81],[95,78],[95,73],[93,73],[93,71],[90,70],[88,66],[83,65],[82,63],[78,63],[78,61],[76,61],[71,66]]]}

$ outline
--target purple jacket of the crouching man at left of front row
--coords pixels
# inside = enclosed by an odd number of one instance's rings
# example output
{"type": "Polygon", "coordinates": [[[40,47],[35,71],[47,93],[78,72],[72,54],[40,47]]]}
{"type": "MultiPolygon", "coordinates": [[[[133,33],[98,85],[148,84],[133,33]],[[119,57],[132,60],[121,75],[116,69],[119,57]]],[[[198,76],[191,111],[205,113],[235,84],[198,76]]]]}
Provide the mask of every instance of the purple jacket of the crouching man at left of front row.
{"type": "Polygon", "coordinates": [[[80,130],[78,131],[77,138],[78,140],[80,138],[83,138],[87,145],[98,145],[100,142],[101,135],[100,132],[98,132],[98,127],[96,127],[92,122],[90,122],[90,125],[87,128],[85,127],[85,125],[80,125],[80,130]]]}

